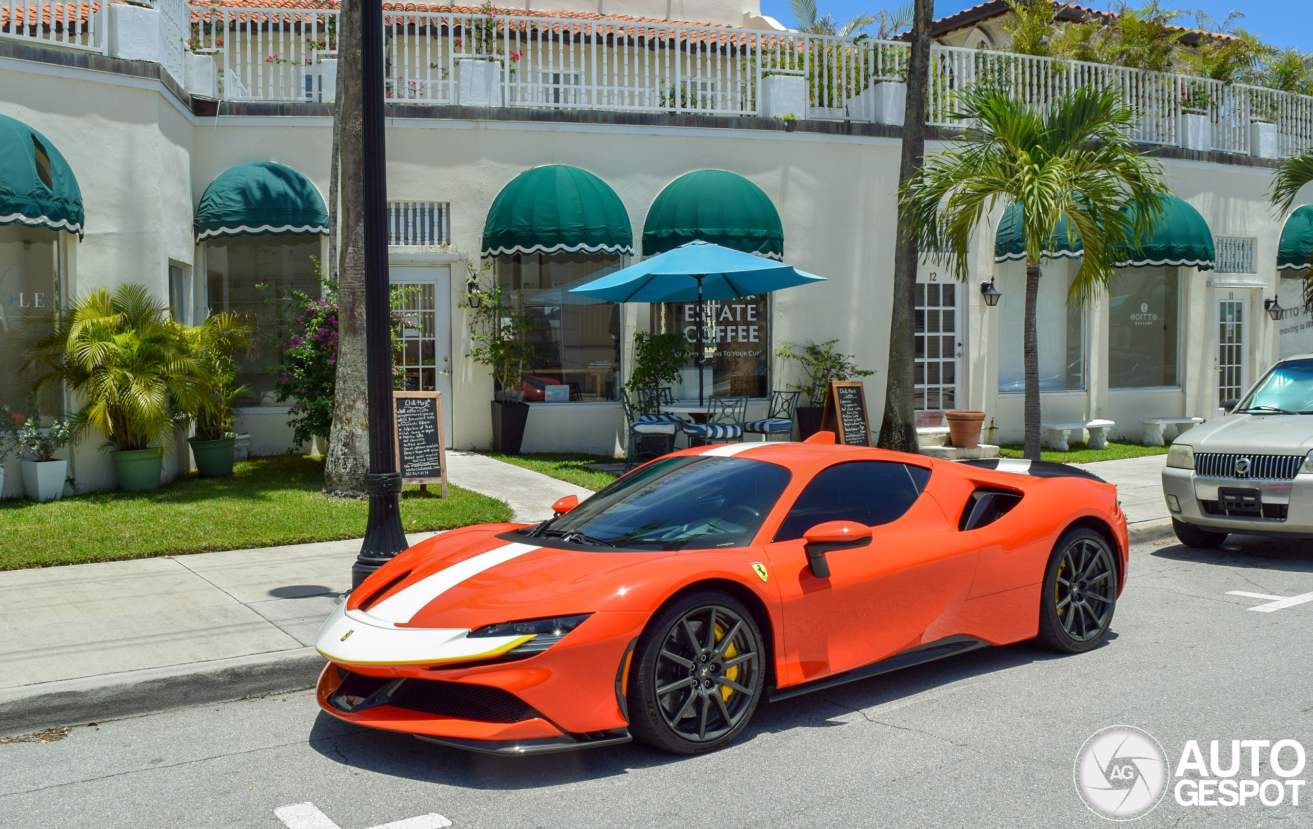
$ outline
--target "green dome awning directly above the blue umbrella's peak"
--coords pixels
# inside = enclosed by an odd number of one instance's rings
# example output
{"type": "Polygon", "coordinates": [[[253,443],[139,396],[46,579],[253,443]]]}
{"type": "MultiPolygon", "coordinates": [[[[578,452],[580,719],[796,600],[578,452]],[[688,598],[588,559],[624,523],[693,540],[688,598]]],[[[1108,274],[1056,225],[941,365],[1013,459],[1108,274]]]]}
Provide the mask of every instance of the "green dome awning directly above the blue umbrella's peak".
{"type": "Polygon", "coordinates": [[[695,240],[784,259],[784,227],[769,196],[726,169],[684,173],[647,210],[643,256],[695,240]]]}

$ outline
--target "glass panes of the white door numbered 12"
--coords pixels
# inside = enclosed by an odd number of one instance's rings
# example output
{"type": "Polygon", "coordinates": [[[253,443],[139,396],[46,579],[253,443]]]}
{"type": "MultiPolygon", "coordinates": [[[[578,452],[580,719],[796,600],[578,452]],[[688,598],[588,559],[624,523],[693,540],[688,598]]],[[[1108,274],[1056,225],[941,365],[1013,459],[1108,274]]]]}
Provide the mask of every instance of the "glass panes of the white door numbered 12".
{"type": "Polygon", "coordinates": [[[916,273],[913,381],[916,410],[957,407],[960,285],[940,271],[916,273]]]}

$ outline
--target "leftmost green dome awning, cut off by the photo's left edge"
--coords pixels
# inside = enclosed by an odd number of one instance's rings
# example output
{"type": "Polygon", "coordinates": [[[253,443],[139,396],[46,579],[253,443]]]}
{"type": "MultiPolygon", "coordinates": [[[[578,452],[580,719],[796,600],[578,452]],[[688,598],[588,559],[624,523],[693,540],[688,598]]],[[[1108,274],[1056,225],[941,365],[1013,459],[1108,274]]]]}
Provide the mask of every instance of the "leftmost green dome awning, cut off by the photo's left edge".
{"type": "Polygon", "coordinates": [[[81,189],[55,145],[22,121],[0,116],[0,225],[83,235],[81,189]]]}

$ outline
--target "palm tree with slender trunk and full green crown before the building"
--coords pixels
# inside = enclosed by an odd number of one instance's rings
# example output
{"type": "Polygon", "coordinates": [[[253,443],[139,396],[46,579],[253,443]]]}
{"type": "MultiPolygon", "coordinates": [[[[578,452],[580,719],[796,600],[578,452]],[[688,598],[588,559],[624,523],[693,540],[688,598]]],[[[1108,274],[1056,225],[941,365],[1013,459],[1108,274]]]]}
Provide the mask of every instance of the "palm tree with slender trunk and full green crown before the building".
{"type": "Polygon", "coordinates": [[[961,280],[969,273],[972,234],[997,206],[1018,205],[1025,242],[1025,457],[1040,457],[1036,300],[1044,250],[1058,229],[1083,247],[1069,301],[1106,290],[1115,263],[1138,247],[1162,219],[1167,187],[1162,168],[1127,139],[1132,113],[1112,89],[1079,89],[1037,112],[985,87],[962,93],[953,117],[970,123],[920,177],[902,190],[916,239],[947,259],[961,280]],[[1129,208],[1124,210],[1123,208],[1129,208]]]}

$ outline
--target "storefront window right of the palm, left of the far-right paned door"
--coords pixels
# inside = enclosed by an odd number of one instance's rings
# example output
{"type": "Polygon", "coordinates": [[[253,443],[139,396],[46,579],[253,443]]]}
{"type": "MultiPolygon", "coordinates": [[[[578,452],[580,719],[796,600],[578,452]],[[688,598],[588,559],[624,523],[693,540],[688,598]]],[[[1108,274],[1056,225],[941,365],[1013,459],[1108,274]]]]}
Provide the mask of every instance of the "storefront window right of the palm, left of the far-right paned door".
{"type": "Polygon", "coordinates": [[[1108,386],[1175,386],[1176,268],[1119,271],[1108,297],[1108,386]]]}

